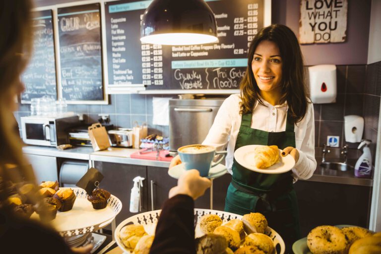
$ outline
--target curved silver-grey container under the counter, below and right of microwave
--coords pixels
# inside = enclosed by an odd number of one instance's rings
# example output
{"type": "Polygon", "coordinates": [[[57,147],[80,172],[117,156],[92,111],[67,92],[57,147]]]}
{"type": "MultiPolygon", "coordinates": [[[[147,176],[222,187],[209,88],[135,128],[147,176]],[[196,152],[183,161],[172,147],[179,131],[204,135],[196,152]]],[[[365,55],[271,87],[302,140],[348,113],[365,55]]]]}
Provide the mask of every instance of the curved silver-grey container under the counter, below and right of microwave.
{"type": "Polygon", "coordinates": [[[60,187],[76,187],[75,184],[88,169],[87,161],[65,160],[60,169],[60,187]]]}

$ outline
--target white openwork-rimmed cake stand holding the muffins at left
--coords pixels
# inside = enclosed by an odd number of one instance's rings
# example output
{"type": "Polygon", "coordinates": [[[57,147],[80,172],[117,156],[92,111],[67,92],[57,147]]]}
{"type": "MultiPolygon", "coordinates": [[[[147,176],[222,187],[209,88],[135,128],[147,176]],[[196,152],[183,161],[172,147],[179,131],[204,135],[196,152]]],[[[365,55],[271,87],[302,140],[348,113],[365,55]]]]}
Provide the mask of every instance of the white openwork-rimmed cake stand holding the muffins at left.
{"type": "MultiPolygon", "coordinates": [[[[70,189],[73,190],[76,195],[73,208],[66,212],[58,211],[56,219],[52,220],[52,226],[59,231],[63,237],[83,235],[99,230],[110,224],[122,209],[121,200],[111,195],[107,206],[103,209],[96,210],[93,208],[91,202],[87,200],[85,190],[81,188],[70,189]]],[[[36,213],[33,213],[32,217],[39,219],[36,213]]]]}

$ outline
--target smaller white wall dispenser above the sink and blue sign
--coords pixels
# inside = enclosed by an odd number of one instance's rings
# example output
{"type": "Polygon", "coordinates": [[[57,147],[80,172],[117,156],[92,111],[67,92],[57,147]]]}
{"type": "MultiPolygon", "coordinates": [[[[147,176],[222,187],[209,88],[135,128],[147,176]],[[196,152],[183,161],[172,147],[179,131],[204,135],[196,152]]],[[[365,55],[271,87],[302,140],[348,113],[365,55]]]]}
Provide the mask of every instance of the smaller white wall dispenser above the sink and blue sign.
{"type": "Polygon", "coordinates": [[[364,131],[364,118],[355,115],[344,116],[345,141],[357,143],[361,141],[364,131]]]}

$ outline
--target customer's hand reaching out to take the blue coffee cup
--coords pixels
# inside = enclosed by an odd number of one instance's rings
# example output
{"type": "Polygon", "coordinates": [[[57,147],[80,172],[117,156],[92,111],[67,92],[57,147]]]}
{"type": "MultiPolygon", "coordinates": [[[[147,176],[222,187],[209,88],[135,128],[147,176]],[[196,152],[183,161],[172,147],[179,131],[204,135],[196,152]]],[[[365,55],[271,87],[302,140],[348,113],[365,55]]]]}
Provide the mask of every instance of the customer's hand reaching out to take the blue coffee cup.
{"type": "Polygon", "coordinates": [[[171,198],[177,194],[186,194],[195,200],[197,197],[202,196],[210,185],[210,180],[206,177],[200,177],[198,170],[187,170],[180,176],[177,186],[169,191],[169,197],[171,198]]]}

